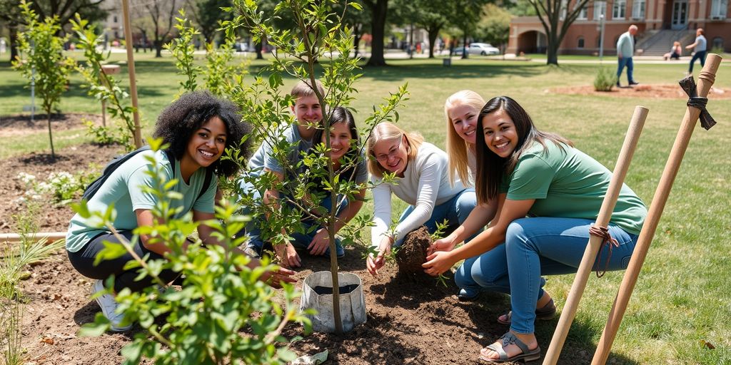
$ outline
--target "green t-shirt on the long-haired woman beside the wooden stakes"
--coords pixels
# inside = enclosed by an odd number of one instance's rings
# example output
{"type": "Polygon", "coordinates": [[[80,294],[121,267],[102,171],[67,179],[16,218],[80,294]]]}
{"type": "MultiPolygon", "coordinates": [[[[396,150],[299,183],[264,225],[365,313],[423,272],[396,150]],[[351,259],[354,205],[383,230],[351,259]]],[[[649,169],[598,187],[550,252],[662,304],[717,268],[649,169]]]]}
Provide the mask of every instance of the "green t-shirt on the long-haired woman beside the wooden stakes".
{"type": "MultiPolygon", "coordinates": [[[[529,215],[596,220],[609,188],[611,172],[594,158],[568,145],[534,143],[520,156],[509,182],[501,186],[507,199],[535,199],[529,215]]],[[[640,234],[647,207],[622,184],[610,223],[640,234]]]]}

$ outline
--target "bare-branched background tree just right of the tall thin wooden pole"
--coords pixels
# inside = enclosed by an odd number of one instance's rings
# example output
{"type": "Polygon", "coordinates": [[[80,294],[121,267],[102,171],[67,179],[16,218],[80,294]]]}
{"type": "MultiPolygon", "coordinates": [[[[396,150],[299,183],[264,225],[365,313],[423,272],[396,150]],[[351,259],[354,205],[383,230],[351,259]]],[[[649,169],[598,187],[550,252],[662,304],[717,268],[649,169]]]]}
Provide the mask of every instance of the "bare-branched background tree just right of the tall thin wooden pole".
{"type": "MultiPolygon", "coordinates": [[[[130,9],[135,28],[140,30],[144,38],[148,32],[153,35],[155,57],[162,57],[162,46],[172,39],[170,31],[175,26],[175,14],[180,3],[177,0],[135,0],[131,1],[130,9]]],[[[128,39],[127,42],[133,42],[128,39]]]]}

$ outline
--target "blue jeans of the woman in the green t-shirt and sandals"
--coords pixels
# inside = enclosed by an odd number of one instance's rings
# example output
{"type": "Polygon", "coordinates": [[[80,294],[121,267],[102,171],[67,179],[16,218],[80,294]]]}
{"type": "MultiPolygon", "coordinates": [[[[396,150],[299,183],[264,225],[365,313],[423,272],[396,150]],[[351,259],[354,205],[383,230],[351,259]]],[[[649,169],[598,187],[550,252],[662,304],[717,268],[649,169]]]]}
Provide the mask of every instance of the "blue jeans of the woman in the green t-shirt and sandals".
{"type": "MultiPolygon", "coordinates": [[[[474,281],[487,290],[510,293],[510,329],[531,334],[536,301],[542,296],[545,285],[541,275],[575,273],[588,244],[592,224],[594,220],[576,218],[514,220],[505,232],[504,244],[466,260],[455,274],[455,281],[460,287],[474,281]]],[[[600,257],[594,261],[594,270],[626,269],[635,250],[637,235],[618,226],[608,228],[619,247],[613,247],[611,257],[610,250],[603,247],[600,257]]]]}

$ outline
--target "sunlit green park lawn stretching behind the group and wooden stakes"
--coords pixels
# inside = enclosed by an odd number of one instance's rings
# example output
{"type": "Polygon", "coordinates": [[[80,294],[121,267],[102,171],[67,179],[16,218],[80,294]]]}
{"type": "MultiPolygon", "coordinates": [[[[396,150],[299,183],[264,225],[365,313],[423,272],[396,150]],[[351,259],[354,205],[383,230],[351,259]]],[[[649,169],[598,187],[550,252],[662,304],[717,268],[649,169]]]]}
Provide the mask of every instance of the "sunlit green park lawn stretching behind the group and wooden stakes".
{"type": "MultiPolygon", "coordinates": [[[[80,55],[80,53],[76,53],[80,55]]],[[[137,85],[144,120],[143,135],[149,135],[156,114],[178,93],[181,76],[175,74],[168,56],[155,59],[138,53],[137,85]]],[[[202,58],[202,56],[197,56],[202,58]]],[[[124,61],[113,54],[112,61],[124,61]]],[[[559,60],[560,62],[560,60],[559,60]]],[[[252,69],[265,61],[253,61],[252,69]]],[[[650,110],[626,183],[646,204],[654,190],[686,110],[681,99],[629,99],[611,96],[556,94],[552,88],[590,85],[597,65],[565,64],[559,67],[534,62],[453,59],[442,61],[389,61],[389,67],[365,69],[357,82],[357,100],[352,104],[356,120],[366,118],[371,107],[388,92],[408,82],[410,99],[399,110],[399,125],[418,131],[428,142],[444,147],[444,99],[469,88],[486,98],[508,95],[517,99],[539,128],[562,134],[576,147],[613,168],[635,105],[650,110]]],[[[28,104],[25,81],[6,63],[0,64],[0,118],[18,114],[28,104]]],[[[681,77],[686,64],[637,64],[637,80],[645,84],[670,84],[681,77]]],[[[610,66],[611,67],[611,66],[610,66]]],[[[123,67],[123,72],[124,72],[123,67]]],[[[126,74],[118,75],[126,84],[126,74]]],[[[285,80],[288,91],[294,80],[285,80]]],[[[64,112],[98,112],[99,103],[80,89],[80,77],[61,103],[64,112]]],[[[719,68],[716,86],[731,89],[731,64],[719,68]]],[[[713,100],[709,110],[719,124],[705,131],[697,128],[686,153],[675,187],[656,231],[635,294],[613,346],[610,364],[727,364],[731,363],[731,277],[727,231],[731,218],[731,169],[727,146],[731,144],[731,100],[713,100]],[[710,350],[701,341],[712,343],[710,350]]],[[[77,129],[55,134],[57,148],[88,142],[77,129]]],[[[6,140],[0,158],[48,150],[48,136],[39,132],[23,137],[23,143],[6,140]]],[[[395,199],[397,201],[398,199],[395,199]]],[[[404,204],[399,206],[404,207],[404,204]]],[[[373,210],[368,201],[363,214],[373,210]]],[[[400,210],[395,209],[394,215],[400,210]]],[[[622,272],[592,278],[577,312],[564,352],[572,344],[595,347],[602,333],[622,272]]],[[[550,277],[547,290],[561,308],[573,275],[550,277]]],[[[491,305],[482,301],[475,305],[491,305]]],[[[503,305],[499,301],[497,305],[503,305]]],[[[554,322],[555,323],[555,322],[554,322]]],[[[553,326],[537,323],[539,343],[548,346],[553,326]]],[[[471,354],[470,354],[471,355],[471,354]]]]}

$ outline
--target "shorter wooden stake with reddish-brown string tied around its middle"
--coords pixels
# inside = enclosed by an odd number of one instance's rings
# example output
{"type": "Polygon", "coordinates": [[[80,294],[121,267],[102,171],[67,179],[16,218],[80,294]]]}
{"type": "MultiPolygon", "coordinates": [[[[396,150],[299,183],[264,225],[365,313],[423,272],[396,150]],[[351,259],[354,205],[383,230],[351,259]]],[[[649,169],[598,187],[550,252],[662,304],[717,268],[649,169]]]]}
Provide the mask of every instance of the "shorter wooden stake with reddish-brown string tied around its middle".
{"type": "MultiPolygon", "coordinates": [[[[648,109],[637,105],[635,107],[635,113],[632,115],[632,120],[629,122],[629,128],[624,136],[624,142],[617,158],[617,164],[614,167],[612,173],[612,180],[610,180],[609,188],[607,188],[607,194],[602,201],[602,207],[599,209],[599,215],[596,217],[596,227],[606,227],[609,224],[610,218],[612,218],[612,212],[617,204],[617,198],[624,183],[629,164],[632,162],[632,155],[635,154],[635,148],[637,147],[637,140],[640,139],[642,134],[643,126],[645,126],[645,119],[647,118],[648,109]]],[[[556,331],[553,333],[548,352],[543,359],[543,365],[556,364],[558,356],[561,355],[561,349],[564,347],[564,341],[569,333],[569,327],[574,320],[576,315],[579,301],[586,288],[586,282],[589,274],[591,274],[591,267],[594,266],[596,259],[596,253],[599,252],[599,248],[602,247],[602,237],[590,236],[586,250],[584,250],[584,256],[581,258],[581,264],[576,272],[574,283],[571,285],[571,291],[569,291],[569,297],[564,305],[564,310],[561,311],[561,318],[558,320],[558,326],[556,331]]]]}

